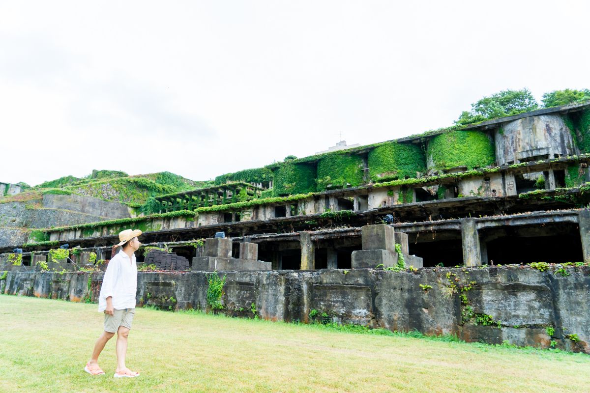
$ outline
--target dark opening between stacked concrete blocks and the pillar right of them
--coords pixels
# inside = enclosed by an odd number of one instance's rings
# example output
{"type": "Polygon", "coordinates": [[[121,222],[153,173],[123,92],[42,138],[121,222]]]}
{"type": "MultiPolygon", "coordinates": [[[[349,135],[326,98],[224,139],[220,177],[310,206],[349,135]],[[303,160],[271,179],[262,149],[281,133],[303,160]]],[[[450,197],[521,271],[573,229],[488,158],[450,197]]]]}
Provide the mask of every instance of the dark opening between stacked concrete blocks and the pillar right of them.
{"type": "MultiPolygon", "coordinates": [[[[410,242],[408,245],[409,254],[421,257],[424,267],[434,267],[440,263],[442,263],[442,266],[462,266],[463,243],[461,243],[461,233],[458,232],[457,235],[459,236],[458,239],[452,240],[410,242]]],[[[428,235],[423,234],[421,236],[428,235]]]]}

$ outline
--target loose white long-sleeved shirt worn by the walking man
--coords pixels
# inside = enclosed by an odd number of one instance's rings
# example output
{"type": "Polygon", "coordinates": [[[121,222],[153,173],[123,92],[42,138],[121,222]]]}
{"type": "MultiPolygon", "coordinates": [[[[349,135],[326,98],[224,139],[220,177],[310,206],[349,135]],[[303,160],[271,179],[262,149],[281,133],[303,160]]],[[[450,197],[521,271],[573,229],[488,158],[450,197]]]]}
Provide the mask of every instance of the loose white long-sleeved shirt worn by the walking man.
{"type": "Polygon", "coordinates": [[[107,298],[112,296],[113,308],[122,310],[135,308],[135,294],[137,292],[137,264],[135,254],[131,260],[120,250],[110,260],[104,272],[103,284],[100,287],[99,311],[107,308],[107,298]]]}

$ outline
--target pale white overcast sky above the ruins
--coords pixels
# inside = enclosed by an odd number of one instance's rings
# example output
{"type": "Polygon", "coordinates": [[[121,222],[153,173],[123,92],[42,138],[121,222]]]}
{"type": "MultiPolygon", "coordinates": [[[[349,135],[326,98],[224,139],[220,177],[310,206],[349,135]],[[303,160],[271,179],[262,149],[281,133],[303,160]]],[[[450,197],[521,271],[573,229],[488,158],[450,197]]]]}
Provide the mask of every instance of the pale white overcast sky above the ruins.
{"type": "Polygon", "coordinates": [[[1,1],[0,181],[193,180],[590,88],[584,1],[1,1]]]}

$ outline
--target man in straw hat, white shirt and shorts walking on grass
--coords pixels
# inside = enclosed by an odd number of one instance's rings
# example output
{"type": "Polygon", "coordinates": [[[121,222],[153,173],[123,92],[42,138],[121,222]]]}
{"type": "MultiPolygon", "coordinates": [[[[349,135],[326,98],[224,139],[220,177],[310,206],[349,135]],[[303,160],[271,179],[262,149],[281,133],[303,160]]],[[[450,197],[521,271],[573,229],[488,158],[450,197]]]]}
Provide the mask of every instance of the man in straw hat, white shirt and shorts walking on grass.
{"type": "Polygon", "coordinates": [[[104,272],[103,284],[100,288],[99,311],[104,312],[104,332],[94,344],[94,351],[90,361],[84,367],[84,371],[92,375],[104,374],[99,367],[99,355],[117,333],[117,371],[115,378],[132,378],[139,376],[139,372],[131,371],[125,365],[127,354],[127,336],[131,329],[133,316],[135,315],[135,294],[137,292],[137,265],[135,252],[141,243],[137,236],[141,235],[139,229],[126,229],[119,233],[122,246],[119,253],[110,260],[106,272],[104,272]]]}

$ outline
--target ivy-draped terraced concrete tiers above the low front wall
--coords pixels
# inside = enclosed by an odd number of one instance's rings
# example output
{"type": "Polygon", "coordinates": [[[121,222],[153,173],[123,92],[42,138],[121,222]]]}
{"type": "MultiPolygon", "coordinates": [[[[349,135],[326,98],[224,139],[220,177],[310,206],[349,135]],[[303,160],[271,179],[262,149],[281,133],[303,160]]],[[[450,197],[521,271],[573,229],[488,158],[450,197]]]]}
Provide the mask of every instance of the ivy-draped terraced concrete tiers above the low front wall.
{"type": "MultiPolygon", "coordinates": [[[[359,267],[352,255],[363,251],[362,227],[382,224],[386,214],[391,214],[394,222],[389,226],[403,235],[395,240],[401,245],[399,254],[408,261],[415,257],[414,267],[459,265],[477,269],[537,261],[588,263],[589,161],[590,104],[545,108],[221,175],[214,186],[156,196],[142,207],[144,213],[135,217],[44,229],[46,240],[38,242],[29,236],[26,241],[3,245],[0,252],[22,247],[24,265],[30,265],[33,257],[68,243],[107,260],[117,233],[135,227],[145,233],[144,243],[172,247],[178,255],[192,260],[203,257],[198,239],[225,232],[232,242],[228,258],[240,259],[243,243],[257,245],[258,260],[270,262],[272,270],[326,269],[318,272],[317,280],[322,282],[322,275],[328,277],[332,270],[345,275],[343,272],[359,267]]],[[[394,259],[387,254],[383,260],[391,263],[394,259]]],[[[371,271],[379,265],[377,260],[375,266],[370,260],[363,263],[362,267],[371,271]]],[[[384,274],[388,273],[395,274],[384,274]]],[[[509,290],[510,274],[499,276],[489,288],[496,285],[494,290],[509,290]]],[[[576,270],[571,276],[564,276],[560,285],[567,286],[568,279],[575,281],[578,289],[586,288],[586,292],[572,296],[586,293],[587,297],[590,283],[586,270],[576,270]]],[[[397,285],[394,282],[391,285],[397,285]]],[[[259,283],[254,285],[253,290],[262,290],[259,283]]],[[[350,291],[359,283],[343,280],[325,285],[332,285],[330,290],[340,285],[334,293],[346,298],[354,297],[350,291]]],[[[440,282],[424,285],[440,286],[440,282]]],[[[379,285],[363,286],[372,288],[374,298],[379,285]]],[[[528,290],[526,285],[519,288],[516,290],[528,290]]],[[[484,299],[491,299],[486,296],[484,299]]],[[[319,298],[317,302],[321,303],[319,298]]],[[[346,308],[346,302],[343,304],[346,308]]],[[[458,307],[464,311],[466,306],[458,307]]],[[[404,307],[414,309],[410,303],[404,307]]],[[[567,302],[559,303],[559,308],[575,314],[566,309],[567,302]]],[[[503,310],[509,313],[510,307],[503,310]]],[[[484,311],[475,313],[488,315],[484,311]]],[[[582,315],[582,322],[588,321],[587,313],[582,315]]],[[[358,321],[377,323],[375,318],[358,321]]],[[[463,322],[457,321],[457,326],[464,326],[463,322]]],[[[547,323],[525,322],[523,326],[542,329],[547,323]]],[[[415,325],[409,323],[404,328],[408,326],[415,325]]],[[[441,332],[455,331],[457,326],[441,332]]],[[[429,329],[424,330],[433,331],[429,329]]],[[[528,338],[519,342],[539,344],[535,338],[538,332],[531,332],[523,333],[528,338]]],[[[584,335],[583,342],[590,339],[588,332],[576,334],[584,335]]],[[[566,333],[561,337],[565,340],[566,333]]]]}

